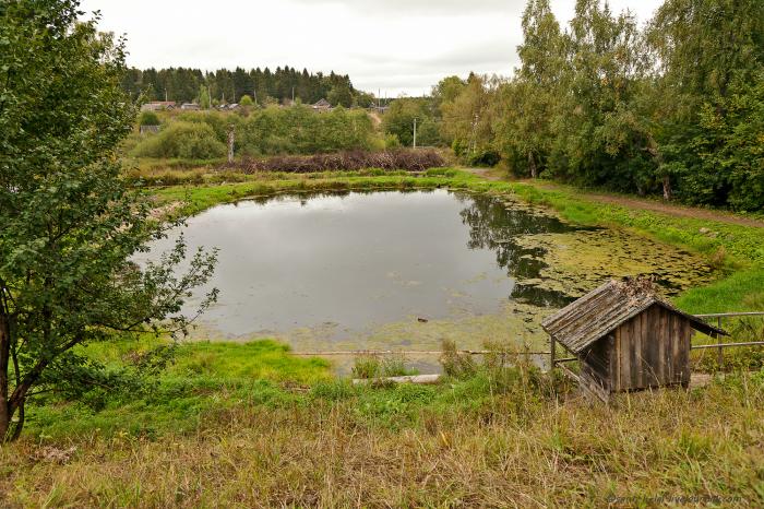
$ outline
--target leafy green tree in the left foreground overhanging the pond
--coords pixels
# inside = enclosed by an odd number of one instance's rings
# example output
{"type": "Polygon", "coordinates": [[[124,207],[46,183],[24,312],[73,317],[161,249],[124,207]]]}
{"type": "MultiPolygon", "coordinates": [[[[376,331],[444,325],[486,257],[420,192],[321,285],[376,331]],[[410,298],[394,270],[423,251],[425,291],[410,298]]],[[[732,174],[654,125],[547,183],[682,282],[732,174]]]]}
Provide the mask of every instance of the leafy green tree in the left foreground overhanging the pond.
{"type": "Polygon", "coordinates": [[[133,261],[172,224],[120,176],[135,118],[119,86],[123,42],[77,8],[0,4],[0,441],[19,436],[29,399],[123,381],[77,347],[159,320],[183,330],[181,305],[215,260],[200,251],[177,271],[181,238],[157,263],[133,261]]]}

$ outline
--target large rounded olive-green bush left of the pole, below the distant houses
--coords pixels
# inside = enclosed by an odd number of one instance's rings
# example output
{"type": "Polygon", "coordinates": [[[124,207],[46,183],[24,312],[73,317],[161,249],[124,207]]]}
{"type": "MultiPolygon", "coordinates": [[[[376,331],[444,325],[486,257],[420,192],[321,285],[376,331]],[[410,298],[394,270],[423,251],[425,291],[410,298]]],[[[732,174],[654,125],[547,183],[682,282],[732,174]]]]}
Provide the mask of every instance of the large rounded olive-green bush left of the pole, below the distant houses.
{"type": "Polygon", "coordinates": [[[212,159],[225,154],[226,145],[217,140],[212,127],[193,122],[174,122],[133,149],[139,157],[212,159]]]}

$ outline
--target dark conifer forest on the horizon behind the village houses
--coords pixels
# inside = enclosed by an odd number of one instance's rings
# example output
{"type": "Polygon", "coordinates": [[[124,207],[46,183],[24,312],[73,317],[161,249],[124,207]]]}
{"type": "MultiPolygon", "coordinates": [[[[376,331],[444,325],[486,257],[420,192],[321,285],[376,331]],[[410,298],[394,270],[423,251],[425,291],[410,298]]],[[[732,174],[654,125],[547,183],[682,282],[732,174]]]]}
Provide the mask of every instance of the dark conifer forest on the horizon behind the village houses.
{"type": "Polygon", "coordinates": [[[126,72],[122,87],[133,99],[143,94],[147,100],[167,98],[177,103],[204,100],[203,95],[220,103],[239,103],[244,95],[261,105],[284,103],[291,99],[293,87],[295,99],[306,104],[322,98],[345,107],[369,106],[373,102],[370,94],[353,87],[347,74],[310,73],[307,69],[298,71],[288,66],[275,71],[268,68],[249,71],[236,68],[234,71],[218,69],[215,72],[188,68],[132,68],[126,72]]]}

